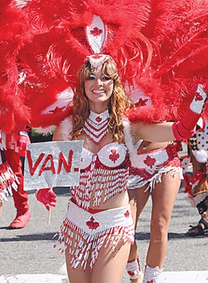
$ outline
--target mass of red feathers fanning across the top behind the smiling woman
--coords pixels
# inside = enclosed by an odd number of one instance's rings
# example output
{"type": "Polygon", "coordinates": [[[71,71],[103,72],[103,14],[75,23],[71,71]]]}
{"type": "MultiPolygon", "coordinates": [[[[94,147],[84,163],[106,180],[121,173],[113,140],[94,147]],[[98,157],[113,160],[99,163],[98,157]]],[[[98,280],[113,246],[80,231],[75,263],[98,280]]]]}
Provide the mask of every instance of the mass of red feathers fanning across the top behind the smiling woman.
{"type": "Polygon", "coordinates": [[[103,37],[100,52],[115,60],[138,106],[129,120],[178,119],[197,83],[207,83],[208,1],[16,0],[4,1],[1,14],[0,127],[6,132],[31,125],[47,133],[69,115],[76,72],[98,53],[86,35],[95,16],[104,25],[103,35],[102,28],[93,30],[93,37],[103,37]]]}

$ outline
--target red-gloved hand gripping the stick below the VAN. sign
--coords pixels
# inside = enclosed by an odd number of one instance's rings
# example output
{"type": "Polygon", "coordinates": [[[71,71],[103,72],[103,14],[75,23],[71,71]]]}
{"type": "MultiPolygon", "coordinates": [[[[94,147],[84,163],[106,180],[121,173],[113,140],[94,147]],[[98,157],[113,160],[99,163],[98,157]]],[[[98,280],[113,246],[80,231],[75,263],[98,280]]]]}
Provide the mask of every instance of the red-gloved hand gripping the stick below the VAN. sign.
{"type": "Polygon", "coordinates": [[[50,206],[55,207],[57,202],[57,195],[50,189],[39,189],[35,193],[35,197],[39,202],[45,205],[46,209],[49,211],[50,206]]]}

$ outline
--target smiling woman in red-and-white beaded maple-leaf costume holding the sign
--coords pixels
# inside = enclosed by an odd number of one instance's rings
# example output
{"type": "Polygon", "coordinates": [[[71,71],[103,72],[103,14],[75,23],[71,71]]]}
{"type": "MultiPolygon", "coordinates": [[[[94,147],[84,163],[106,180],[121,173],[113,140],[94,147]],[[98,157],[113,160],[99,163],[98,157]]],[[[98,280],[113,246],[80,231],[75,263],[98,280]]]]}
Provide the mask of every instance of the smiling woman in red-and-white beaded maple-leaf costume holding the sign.
{"type": "MultiPolygon", "coordinates": [[[[191,129],[187,129],[195,124],[192,115],[192,122],[184,131],[181,122],[156,125],[137,122],[130,129],[123,116],[129,103],[115,62],[108,55],[100,57],[103,59],[96,68],[91,64],[93,56],[87,57],[79,71],[74,115],[54,132],[54,141],[84,141],[80,183],[71,188],[67,215],[58,233],[58,243],[64,239],[71,283],[121,282],[134,242],[134,212],[131,213],[127,193],[133,140],[135,144],[139,139],[168,142],[184,132],[190,134],[191,129]]],[[[177,177],[176,182],[180,183],[177,177]]],[[[54,206],[54,192],[39,190],[37,200],[47,207],[54,206]]],[[[132,207],[134,211],[135,204],[132,207]]]]}

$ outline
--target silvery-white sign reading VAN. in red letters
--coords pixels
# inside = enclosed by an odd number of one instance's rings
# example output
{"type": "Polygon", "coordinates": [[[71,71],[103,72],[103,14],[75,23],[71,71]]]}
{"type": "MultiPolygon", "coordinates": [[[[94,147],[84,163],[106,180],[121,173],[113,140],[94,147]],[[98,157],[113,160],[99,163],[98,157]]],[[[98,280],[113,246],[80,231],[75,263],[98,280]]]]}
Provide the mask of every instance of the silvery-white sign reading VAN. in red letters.
{"type": "Polygon", "coordinates": [[[28,144],[24,190],[79,185],[83,141],[28,144]]]}

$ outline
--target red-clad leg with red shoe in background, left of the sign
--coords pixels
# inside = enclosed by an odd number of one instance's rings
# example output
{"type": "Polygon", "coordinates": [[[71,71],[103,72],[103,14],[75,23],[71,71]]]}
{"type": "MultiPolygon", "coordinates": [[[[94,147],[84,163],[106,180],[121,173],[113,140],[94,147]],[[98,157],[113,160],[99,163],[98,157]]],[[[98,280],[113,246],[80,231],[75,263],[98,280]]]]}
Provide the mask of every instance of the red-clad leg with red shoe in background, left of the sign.
{"type": "Polygon", "coordinates": [[[16,153],[13,149],[7,149],[5,151],[6,159],[8,164],[11,166],[13,173],[18,178],[18,190],[12,190],[13,192],[13,202],[16,207],[16,218],[11,222],[11,229],[21,229],[24,228],[28,221],[30,220],[30,213],[28,212],[28,192],[23,190],[23,171],[22,171],[22,162],[21,156],[16,153]]]}

